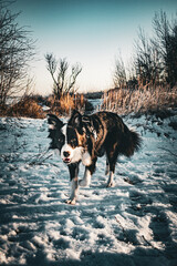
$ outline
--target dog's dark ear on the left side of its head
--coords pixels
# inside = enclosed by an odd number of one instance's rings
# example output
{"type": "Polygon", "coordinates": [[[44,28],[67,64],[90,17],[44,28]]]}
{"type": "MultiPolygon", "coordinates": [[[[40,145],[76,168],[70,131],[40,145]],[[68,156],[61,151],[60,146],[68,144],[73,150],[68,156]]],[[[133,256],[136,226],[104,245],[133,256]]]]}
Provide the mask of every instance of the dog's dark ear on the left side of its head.
{"type": "Polygon", "coordinates": [[[54,139],[56,132],[64,125],[63,122],[58,119],[54,114],[48,114],[48,123],[49,123],[49,137],[54,139]]]}

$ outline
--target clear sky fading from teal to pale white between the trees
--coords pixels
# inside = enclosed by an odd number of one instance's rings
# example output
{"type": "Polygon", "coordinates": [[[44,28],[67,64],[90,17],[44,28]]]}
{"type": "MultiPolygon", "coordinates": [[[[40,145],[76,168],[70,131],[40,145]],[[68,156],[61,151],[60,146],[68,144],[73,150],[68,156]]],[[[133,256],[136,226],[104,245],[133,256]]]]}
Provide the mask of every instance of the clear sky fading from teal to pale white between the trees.
{"type": "Polygon", "coordinates": [[[138,27],[150,34],[155,11],[163,9],[169,18],[176,13],[175,0],[17,0],[21,11],[19,23],[30,25],[37,39],[38,61],[31,73],[35,92],[52,91],[44,54],[80,62],[80,91],[105,90],[113,85],[115,58],[119,54],[128,65],[138,27]]]}

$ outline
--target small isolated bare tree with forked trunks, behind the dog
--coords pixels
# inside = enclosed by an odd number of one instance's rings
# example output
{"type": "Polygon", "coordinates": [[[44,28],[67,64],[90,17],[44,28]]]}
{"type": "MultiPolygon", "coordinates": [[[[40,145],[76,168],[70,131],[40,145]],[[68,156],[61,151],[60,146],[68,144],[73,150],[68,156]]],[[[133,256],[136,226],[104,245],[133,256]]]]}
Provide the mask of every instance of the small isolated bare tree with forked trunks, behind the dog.
{"type": "Polygon", "coordinates": [[[69,74],[69,62],[66,59],[60,59],[58,62],[52,53],[45,54],[46,69],[50,72],[54,82],[53,93],[60,99],[63,93],[75,92],[75,83],[82,66],[76,63],[72,65],[69,74]],[[58,66],[59,64],[59,66],[58,66]]]}

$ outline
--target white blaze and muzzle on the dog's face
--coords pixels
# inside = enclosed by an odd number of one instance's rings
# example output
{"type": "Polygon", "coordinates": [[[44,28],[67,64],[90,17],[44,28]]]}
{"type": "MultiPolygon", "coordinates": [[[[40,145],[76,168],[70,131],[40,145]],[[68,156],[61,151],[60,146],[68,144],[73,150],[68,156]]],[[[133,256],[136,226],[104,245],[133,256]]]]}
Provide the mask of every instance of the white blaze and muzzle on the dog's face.
{"type": "Polygon", "coordinates": [[[72,147],[69,143],[67,143],[67,124],[65,124],[62,129],[61,129],[64,137],[65,137],[65,142],[64,145],[62,146],[61,150],[61,157],[63,160],[63,162],[70,164],[70,163],[76,163],[79,161],[81,161],[82,158],[82,153],[83,153],[83,147],[72,147]],[[69,152],[70,155],[67,157],[64,156],[64,152],[69,152]]]}

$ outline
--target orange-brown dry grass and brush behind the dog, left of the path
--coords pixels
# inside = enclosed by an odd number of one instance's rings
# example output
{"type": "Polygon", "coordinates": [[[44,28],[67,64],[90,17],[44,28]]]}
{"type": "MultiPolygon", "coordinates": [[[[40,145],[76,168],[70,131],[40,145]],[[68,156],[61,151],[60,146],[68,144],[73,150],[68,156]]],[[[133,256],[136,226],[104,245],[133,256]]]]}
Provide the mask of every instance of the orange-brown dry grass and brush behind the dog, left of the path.
{"type": "Polygon", "coordinates": [[[85,100],[83,94],[62,95],[60,100],[55,96],[42,98],[41,95],[25,95],[20,101],[7,105],[0,110],[2,116],[24,116],[32,119],[43,119],[46,112],[56,115],[70,115],[73,109],[82,112],[90,110],[92,106],[85,100]],[[42,105],[49,106],[48,111],[43,111],[42,105]]]}

